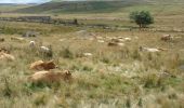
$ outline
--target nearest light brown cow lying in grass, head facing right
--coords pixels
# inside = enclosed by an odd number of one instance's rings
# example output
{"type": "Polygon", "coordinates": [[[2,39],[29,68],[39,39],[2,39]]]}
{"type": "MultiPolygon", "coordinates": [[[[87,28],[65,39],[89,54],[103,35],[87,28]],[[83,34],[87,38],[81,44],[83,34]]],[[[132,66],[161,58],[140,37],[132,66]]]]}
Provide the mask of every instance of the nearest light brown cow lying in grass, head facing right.
{"type": "Polygon", "coordinates": [[[52,82],[60,82],[61,80],[67,81],[71,79],[71,73],[69,70],[65,71],[38,71],[34,75],[31,75],[29,78],[29,81],[34,83],[52,83],[52,82]]]}

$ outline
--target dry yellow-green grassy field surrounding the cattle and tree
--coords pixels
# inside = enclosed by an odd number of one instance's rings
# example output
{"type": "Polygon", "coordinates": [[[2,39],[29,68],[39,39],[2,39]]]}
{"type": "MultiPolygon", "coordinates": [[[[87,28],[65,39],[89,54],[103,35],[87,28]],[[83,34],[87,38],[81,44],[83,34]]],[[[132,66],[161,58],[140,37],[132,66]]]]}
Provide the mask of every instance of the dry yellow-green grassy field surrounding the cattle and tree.
{"type": "MultiPolygon", "coordinates": [[[[106,24],[121,29],[88,28],[51,24],[0,22],[0,48],[15,60],[0,59],[0,105],[2,108],[184,108],[184,13],[183,5],[129,6],[115,13],[58,14],[55,18],[78,18],[83,24],[106,24]],[[145,30],[130,23],[129,13],[149,10],[155,24],[145,30]],[[161,10],[161,11],[160,11],[161,10]],[[11,40],[34,30],[36,38],[11,40]],[[84,31],[84,33],[81,32],[84,31]],[[96,38],[91,39],[93,33],[96,38]],[[172,35],[172,41],[160,40],[172,35]],[[109,38],[131,38],[123,46],[108,46],[109,38]],[[29,41],[51,45],[53,56],[31,50],[29,41]],[[100,40],[104,42],[100,42],[100,40]],[[167,51],[149,53],[140,46],[167,51]],[[91,53],[91,56],[84,56],[91,53]],[[54,59],[58,69],[70,70],[73,80],[34,85],[28,77],[36,60],[54,59]]],[[[0,16],[30,14],[3,13],[0,16]]]]}

